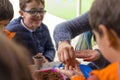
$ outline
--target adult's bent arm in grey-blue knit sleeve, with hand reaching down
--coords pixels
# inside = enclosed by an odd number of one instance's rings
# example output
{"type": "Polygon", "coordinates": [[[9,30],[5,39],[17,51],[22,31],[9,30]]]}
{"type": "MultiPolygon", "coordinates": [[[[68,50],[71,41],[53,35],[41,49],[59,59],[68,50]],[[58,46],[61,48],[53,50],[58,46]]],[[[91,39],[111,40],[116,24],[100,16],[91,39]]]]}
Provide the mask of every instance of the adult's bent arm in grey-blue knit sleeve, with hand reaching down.
{"type": "Polygon", "coordinates": [[[70,40],[90,29],[88,12],[56,26],[54,30],[54,40],[58,48],[58,58],[62,63],[67,66],[74,66],[75,52],[74,48],[70,45],[70,40]]]}

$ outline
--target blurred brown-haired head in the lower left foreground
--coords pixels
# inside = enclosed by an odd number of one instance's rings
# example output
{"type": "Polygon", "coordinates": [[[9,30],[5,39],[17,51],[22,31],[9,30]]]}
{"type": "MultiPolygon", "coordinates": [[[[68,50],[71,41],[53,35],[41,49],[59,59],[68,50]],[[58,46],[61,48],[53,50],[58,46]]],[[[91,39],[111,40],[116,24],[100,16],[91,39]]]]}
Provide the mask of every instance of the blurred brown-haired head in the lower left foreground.
{"type": "Polygon", "coordinates": [[[32,80],[27,53],[0,32],[0,79],[32,80]]]}

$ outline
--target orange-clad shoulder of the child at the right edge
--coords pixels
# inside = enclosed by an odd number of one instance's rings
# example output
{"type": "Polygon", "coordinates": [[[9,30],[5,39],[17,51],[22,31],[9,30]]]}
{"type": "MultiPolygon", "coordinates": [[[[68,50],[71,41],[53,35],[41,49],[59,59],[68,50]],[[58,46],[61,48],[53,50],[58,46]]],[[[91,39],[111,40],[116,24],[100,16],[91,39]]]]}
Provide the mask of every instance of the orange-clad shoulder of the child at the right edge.
{"type": "Polygon", "coordinates": [[[118,80],[119,75],[119,62],[114,62],[101,70],[93,70],[90,74],[96,75],[100,80],[118,80]]]}

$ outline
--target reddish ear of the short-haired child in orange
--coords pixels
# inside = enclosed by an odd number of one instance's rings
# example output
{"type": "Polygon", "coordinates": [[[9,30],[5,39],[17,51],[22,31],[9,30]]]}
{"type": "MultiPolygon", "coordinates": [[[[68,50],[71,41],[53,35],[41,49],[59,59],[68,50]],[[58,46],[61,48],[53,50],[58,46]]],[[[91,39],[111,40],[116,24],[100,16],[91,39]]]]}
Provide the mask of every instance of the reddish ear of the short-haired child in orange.
{"type": "Polygon", "coordinates": [[[111,29],[107,29],[104,25],[99,25],[99,30],[103,34],[106,45],[108,45],[109,47],[117,48],[118,42],[115,32],[111,29]]]}

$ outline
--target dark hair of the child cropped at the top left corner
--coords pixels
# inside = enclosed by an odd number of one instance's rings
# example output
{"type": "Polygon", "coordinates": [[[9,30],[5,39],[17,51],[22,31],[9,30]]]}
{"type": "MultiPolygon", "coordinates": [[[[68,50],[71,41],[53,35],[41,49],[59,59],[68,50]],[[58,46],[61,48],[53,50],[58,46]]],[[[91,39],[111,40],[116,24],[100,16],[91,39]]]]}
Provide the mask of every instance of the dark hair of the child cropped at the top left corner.
{"type": "Polygon", "coordinates": [[[0,21],[11,20],[14,15],[14,10],[9,0],[0,0],[0,21]]]}

